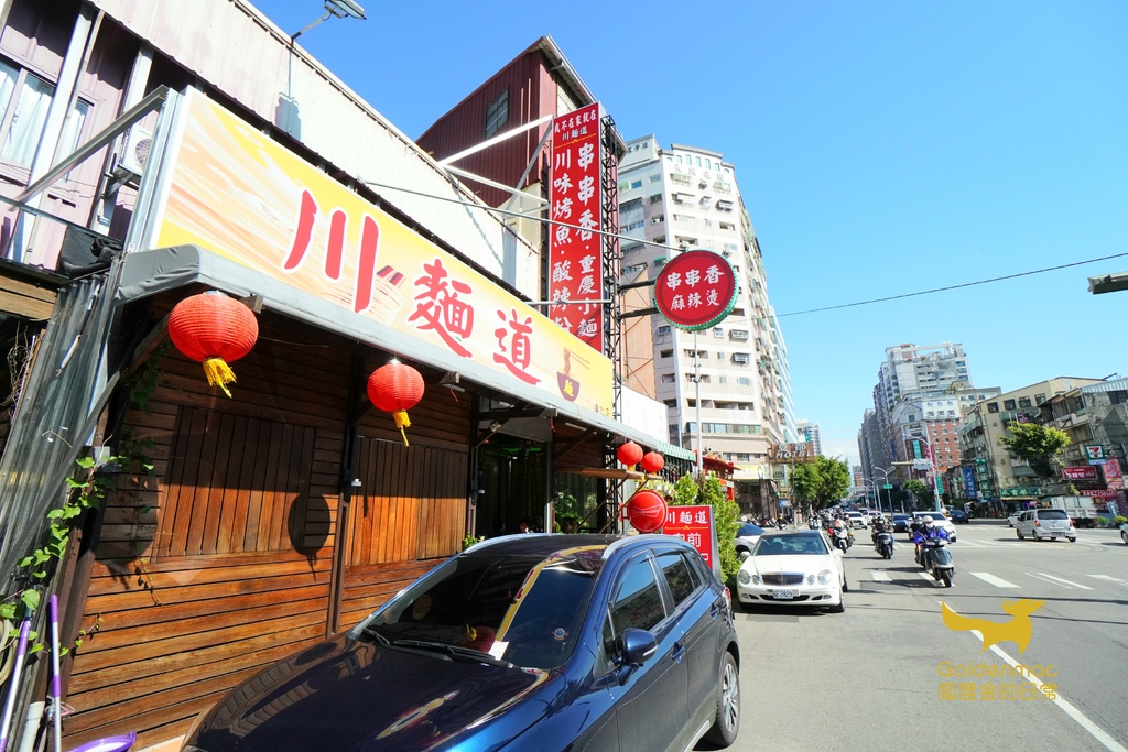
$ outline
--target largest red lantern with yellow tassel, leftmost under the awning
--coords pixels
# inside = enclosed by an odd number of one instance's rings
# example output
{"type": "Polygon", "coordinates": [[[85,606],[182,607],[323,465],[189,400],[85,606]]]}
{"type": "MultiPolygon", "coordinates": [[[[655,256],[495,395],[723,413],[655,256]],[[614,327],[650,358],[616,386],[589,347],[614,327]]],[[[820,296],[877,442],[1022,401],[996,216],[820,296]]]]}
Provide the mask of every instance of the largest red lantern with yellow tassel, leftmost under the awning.
{"type": "Polygon", "coordinates": [[[258,319],[233,298],[213,290],[178,302],[168,316],[168,336],[187,357],[204,364],[208,383],[228,397],[235,381],[228,363],[250,352],[258,339],[258,319]]]}

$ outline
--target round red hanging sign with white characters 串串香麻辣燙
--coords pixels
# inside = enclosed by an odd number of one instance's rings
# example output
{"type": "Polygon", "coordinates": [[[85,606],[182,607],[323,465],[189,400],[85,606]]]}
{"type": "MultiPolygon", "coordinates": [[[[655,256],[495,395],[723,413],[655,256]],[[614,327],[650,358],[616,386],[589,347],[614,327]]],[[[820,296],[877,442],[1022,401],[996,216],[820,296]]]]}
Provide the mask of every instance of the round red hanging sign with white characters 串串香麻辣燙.
{"type": "Polygon", "coordinates": [[[654,280],[654,306],[679,329],[698,331],[724,320],[737,302],[737,275],[724,256],[687,250],[654,280]]]}

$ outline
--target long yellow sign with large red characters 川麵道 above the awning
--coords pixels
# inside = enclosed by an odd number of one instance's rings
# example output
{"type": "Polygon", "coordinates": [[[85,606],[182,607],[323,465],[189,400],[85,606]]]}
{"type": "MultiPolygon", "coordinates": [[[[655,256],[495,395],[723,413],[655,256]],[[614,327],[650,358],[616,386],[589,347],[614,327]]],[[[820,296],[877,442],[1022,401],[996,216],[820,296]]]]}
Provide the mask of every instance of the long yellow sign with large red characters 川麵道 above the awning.
{"type": "Polygon", "coordinates": [[[610,360],[196,92],[157,247],[194,244],[344,311],[613,414],[610,360]]]}

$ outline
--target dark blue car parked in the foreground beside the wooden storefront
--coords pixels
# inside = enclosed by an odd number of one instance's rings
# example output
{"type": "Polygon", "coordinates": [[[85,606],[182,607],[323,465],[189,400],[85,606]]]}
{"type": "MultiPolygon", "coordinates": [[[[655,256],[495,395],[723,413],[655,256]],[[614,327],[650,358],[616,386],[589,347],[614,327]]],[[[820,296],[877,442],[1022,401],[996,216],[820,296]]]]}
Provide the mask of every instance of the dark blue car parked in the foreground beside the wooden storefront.
{"type": "Polygon", "coordinates": [[[183,750],[728,746],[741,708],[728,595],[668,536],[486,540],[231,690],[183,750]]]}

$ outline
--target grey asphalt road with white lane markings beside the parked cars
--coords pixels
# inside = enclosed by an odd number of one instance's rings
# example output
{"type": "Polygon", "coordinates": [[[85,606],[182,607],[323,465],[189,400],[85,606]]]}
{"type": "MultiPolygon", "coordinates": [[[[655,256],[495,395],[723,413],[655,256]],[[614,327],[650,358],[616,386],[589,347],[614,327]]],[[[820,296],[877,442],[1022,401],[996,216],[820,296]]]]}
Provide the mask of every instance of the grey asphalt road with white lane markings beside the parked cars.
{"type": "Polygon", "coordinates": [[[856,536],[845,613],[738,613],[743,717],[730,749],[1128,752],[1128,546],[1116,531],[1033,542],[1005,521],[959,525],[951,589],[922,573],[904,534],[891,560],[856,536]],[[1045,601],[1022,653],[1010,640],[984,649],[941,612],[1005,622],[1004,600],[1020,599],[1045,601]],[[1003,655],[1042,673],[1041,687],[1003,655]],[[969,664],[1012,675],[955,675],[969,664]]]}

